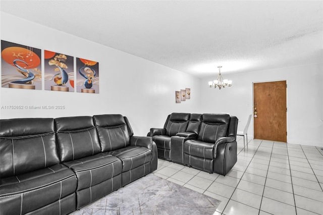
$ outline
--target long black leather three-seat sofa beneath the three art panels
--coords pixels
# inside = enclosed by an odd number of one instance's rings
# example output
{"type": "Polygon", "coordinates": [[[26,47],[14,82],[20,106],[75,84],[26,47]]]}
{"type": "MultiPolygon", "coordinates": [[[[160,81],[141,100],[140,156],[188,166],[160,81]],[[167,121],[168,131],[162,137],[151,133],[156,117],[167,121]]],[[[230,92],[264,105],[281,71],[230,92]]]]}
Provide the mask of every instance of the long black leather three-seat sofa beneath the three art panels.
{"type": "Polygon", "coordinates": [[[0,214],[67,214],[157,169],[122,115],[0,121],[0,214]]]}

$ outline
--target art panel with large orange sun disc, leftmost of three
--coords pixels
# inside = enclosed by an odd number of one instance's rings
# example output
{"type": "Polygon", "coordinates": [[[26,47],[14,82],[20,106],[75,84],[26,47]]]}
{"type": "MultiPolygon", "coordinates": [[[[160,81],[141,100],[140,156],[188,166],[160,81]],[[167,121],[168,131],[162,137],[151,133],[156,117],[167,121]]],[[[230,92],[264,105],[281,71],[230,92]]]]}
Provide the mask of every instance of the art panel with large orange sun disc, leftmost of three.
{"type": "Polygon", "coordinates": [[[1,40],[2,87],[41,90],[41,50],[1,40]]]}

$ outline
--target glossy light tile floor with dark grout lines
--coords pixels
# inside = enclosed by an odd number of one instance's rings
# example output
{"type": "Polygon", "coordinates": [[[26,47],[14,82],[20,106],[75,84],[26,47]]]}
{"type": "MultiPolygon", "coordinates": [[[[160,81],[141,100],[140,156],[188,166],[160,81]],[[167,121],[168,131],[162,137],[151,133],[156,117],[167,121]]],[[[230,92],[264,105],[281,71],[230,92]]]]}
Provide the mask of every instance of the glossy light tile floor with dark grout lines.
{"type": "Polygon", "coordinates": [[[251,140],[224,177],[158,159],[155,175],[221,200],[214,214],[323,214],[321,147],[251,140]]]}

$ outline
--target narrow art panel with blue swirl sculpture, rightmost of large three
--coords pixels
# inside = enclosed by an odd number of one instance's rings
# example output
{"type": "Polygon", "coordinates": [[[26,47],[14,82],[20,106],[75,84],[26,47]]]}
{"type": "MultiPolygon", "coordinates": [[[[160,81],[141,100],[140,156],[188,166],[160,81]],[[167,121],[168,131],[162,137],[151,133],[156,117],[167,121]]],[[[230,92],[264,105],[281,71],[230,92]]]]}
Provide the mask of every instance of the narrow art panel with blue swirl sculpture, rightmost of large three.
{"type": "Polygon", "coordinates": [[[99,63],[76,58],[76,91],[99,93],[99,63]]]}

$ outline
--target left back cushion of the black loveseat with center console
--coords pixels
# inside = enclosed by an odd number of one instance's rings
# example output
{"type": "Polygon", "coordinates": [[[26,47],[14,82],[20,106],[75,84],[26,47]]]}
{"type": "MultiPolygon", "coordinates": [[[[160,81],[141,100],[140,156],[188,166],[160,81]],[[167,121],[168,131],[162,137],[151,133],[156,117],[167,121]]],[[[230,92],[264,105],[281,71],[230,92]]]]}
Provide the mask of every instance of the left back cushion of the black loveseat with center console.
{"type": "Polygon", "coordinates": [[[185,132],[190,114],[172,113],[166,126],[166,134],[175,136],[179,132],[185,132]]]}

